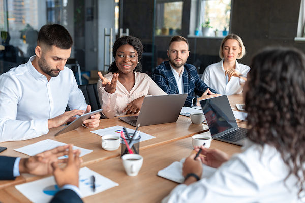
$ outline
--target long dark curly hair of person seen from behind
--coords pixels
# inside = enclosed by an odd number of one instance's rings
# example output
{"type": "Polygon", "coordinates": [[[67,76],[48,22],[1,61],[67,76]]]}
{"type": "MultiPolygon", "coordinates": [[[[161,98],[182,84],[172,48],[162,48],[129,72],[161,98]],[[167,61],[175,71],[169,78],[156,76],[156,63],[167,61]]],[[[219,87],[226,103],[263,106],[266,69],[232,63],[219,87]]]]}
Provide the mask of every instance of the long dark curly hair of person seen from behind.
{"type": "MultiPolygon", "coordinates": [[[[274,146],[304,190],[305,55],[294,48],[267,48],[251,65],[245,95],[248,137],[274,146]]],[[[285,179],[285,180],[286,180],[285,179]]]]}

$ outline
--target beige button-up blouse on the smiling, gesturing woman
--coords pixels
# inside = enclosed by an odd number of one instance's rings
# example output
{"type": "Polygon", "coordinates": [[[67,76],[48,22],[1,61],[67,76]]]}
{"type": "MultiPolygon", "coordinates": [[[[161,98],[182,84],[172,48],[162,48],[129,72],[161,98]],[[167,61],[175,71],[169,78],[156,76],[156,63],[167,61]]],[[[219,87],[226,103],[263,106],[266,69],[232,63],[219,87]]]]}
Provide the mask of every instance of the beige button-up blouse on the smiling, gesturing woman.
{"type": "MultiPolygon", "coordinates": [[[[114,116],[125,115],[126,112],[122,112],[128,103],[144,96],[144,95],[166,95],[166,93],[151,79],[147,74],[135,73],[135,85],[128,92],[125,87],[117,81],[116,90],[113,94],[109,94],[102,87],[102,80],[98,81],[98,93],[101,106],[103,108],[103,114],[107,118],[113,118],[114,116]]],[[[111,81],[113,73],[107,73],[104,77],[111,81]]]]}

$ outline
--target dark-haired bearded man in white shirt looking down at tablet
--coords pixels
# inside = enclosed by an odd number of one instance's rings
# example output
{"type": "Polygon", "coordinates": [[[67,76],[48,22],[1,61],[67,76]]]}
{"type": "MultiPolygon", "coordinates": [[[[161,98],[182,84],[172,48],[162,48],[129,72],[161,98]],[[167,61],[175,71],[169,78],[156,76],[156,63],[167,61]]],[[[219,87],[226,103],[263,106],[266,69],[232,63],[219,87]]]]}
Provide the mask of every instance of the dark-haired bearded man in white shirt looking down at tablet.
{"type": "MultiPolygon", "coordinates": [[[[58,24],[44,25],[38,34],[36,56],[0,76],[0,142],[26,140],[47,134],[91,111],[73,72],[65,67],[73,40],[58,24]],[[67,111],[69,106],[72,111],[67,111]]],[[[100,114],[85,120],[99,126],[100,114]]]]}

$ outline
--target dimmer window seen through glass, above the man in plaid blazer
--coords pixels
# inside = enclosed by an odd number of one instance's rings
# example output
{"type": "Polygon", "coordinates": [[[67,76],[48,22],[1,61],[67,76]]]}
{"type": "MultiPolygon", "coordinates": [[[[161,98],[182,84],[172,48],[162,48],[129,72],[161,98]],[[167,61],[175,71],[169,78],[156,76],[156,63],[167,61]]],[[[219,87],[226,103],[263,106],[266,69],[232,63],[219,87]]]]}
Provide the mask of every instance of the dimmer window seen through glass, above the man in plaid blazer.
{"type": "Polygon", "coordinates": [[[156,35],[178,35],[182,26],[183,2],[157,1],[156,4],[156,35]]]}

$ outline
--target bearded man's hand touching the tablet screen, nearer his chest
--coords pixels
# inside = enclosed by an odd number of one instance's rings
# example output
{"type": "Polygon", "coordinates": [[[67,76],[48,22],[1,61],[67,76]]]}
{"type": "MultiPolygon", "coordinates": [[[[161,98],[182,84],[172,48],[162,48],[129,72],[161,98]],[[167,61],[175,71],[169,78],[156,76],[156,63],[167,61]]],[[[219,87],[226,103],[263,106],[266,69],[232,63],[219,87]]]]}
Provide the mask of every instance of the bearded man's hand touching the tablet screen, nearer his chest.
{"type": "Polygon", "coordinates": [[[55,118],[51,118],[48,120],[48,128],[58,127],[67,122],[72,122],[76,119],[76,115],[82,115],[85,111],[74,109],[72,111],[66,111],[62,115],[56,116],[55,118]]]}

